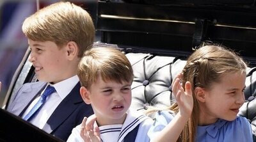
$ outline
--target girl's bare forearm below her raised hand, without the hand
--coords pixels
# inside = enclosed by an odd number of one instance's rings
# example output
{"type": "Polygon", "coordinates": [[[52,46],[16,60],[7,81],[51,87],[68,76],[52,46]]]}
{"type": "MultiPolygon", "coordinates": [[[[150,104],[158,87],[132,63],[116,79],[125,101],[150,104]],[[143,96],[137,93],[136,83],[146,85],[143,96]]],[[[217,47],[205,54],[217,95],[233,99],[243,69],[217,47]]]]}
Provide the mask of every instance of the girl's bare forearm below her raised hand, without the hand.
{"type": "Polygon", "coordinates": [[[188,117],[177,113],[172,121],[151,142],[176,142],[188,120],[188,117]]]}

